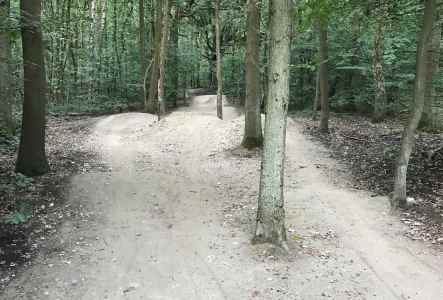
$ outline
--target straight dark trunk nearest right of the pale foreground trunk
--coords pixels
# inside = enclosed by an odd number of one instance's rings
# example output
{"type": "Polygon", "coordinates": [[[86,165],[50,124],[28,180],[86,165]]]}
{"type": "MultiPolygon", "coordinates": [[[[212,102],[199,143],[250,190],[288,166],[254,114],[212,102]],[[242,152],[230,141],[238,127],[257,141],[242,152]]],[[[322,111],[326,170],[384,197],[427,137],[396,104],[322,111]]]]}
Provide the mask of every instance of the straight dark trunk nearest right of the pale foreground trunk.
{"type": "Polygon", "coordinates": [[[320,37],[320,131],[329,132],[329,84],[328,84],[328,24],[318,21],[320,37]]]}

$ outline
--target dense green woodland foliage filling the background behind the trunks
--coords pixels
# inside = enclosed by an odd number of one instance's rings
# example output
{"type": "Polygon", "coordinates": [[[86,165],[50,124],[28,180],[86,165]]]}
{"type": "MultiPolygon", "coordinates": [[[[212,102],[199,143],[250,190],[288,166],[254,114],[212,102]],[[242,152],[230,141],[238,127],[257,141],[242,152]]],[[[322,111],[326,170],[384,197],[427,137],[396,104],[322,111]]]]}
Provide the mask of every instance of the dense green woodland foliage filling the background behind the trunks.
{"type": "MultiPolygon", "coordinates": [[[[153,1],[144,2],[143,11],[140,11],[143,1],[43,2],[50,113],[114,112],[142,107],[144,74],[140,70],[152,59],[155,22],[153,1]],[[140,17],[145,26],[139,26],[140,17]],[[144,42],[142,54],[140,37],[144,42]]],[[[317,13],[326,14],[328,20],[331,109],[371,115],[375,99],[382,97],[386,100],[381,109],[387,116],[407,113],[412,101],[421,1],[320,1],[324,7],[316,10],[309,2],[312,1],[298,1],[294,16],[291,109],[312,110],[316,96],[319,39],[314,14],[317,13]],[[380,75],[374,74],[377,68],[380,75]]],[[[215,39],[211,1],[171,1],[171,4],[166,98],[173,106],[177,98],[184,97],[187,88],[214,87],[215,39]]],[[[266,11],[263,8],[261,18],[263,74],[267,59],[266,11]]],[[[242,102],[245,1],[221,1],[220,20],[224,92],[232,100],[242,102]]],[[[14,119],[18,124],[23,94],[18,1],[11,1],[9,22],[3,26],[6,25],[12,38],[8,63],[14,119]]],[[[443,76],[438,68],[440,42],[441,26],[436,26],[429,72],[437,75],[428,82],[425,119],[429,122],[423,124],[429,129],[441,129],[443,125],[443,76]]]]}

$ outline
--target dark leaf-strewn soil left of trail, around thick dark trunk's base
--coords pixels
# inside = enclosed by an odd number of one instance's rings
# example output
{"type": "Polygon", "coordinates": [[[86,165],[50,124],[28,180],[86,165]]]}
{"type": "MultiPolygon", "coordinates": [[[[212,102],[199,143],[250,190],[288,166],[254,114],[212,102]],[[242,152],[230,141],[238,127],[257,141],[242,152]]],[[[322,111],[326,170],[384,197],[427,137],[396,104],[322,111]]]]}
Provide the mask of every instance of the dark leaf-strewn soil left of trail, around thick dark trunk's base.
{"type": "Polygon", "coordinates": [[[72,207],[65,203],[69,178],[101,167],[93,165],[95,152],[88,143],[96,120],[85,116],[50,118],[47,152],[51,171],[35,178],[14,171],[18,139],[0,138],[0,290],[32,263],[58,225],[72,215],[72,207]],[[30,207],[29,219],[10,224],[6,220],[20,212],[20,203],[30,207]]]}

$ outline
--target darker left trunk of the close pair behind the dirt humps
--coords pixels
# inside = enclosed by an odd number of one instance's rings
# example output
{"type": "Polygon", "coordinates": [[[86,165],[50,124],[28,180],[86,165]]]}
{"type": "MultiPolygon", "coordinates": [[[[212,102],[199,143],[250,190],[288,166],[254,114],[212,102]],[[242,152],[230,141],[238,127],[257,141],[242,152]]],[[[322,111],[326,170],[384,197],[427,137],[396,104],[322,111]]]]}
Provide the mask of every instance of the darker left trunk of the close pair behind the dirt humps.
{"type": "Polygon", "coordinates": [[[154,53],[151,66],[151,78],[149,80],[149,93],[145,99],[145,110],[148,113],[158,112],[158,78],[160,77],[160,46],[162,34],[163,0],[156,0],[155,30],[154,30],[154,53]]]}

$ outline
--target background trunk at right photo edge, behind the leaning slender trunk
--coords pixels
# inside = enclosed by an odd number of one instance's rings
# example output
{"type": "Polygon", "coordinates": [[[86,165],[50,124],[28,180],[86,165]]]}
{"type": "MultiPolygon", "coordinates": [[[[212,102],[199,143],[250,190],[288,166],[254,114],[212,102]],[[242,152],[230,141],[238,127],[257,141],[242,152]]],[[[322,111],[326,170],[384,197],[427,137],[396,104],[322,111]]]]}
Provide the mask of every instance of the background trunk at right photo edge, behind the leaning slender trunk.
{"type": "MultiPolygon", "coordinates": [[[[436,18],[436,21],[440,19],[438,13],[436,13],[434,17],[436,18]]],[[[431,130],[443,129],[443,119],[434,112],[436,98],[438,97],[434,85],[434,77],[436,74],[438,74],[440,67],[441,27],[441,25],[434,26],[432,30],[431,42],[428,48],[425,105],[423,117],[420,122],[421,127],[426,127],[431,130]]]]}

